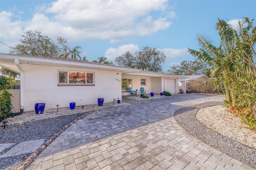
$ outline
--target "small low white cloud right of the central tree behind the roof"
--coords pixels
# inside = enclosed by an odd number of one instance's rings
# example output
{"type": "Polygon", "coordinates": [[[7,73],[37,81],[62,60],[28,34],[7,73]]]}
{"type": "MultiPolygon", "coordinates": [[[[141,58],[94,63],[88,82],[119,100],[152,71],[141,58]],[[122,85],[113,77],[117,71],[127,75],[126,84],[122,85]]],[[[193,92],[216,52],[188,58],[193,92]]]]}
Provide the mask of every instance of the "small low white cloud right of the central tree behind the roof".
{"type": "Polygon", "coordinates": [[[164,48],[159,49],[166,55],[166,61],[172,59],[172,58],[178,58],[182,57],[184,55],[189,55],[188,49],[182,48],[182,49],[173,49],[173,48],[164,48]]]}

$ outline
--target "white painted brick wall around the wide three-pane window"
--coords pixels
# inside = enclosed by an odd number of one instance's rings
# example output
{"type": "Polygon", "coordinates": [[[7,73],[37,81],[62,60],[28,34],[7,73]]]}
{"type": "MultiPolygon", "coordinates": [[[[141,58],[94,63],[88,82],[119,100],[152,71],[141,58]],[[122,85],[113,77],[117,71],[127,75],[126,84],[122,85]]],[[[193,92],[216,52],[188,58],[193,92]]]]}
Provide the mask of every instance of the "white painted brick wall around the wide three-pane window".
{"type": "Polygon", "coordinates": [[[122,100],[121,72],[52,67],[44,65],[21,65],[24,70],[24,111],[34,110],[35,103],[46,103],[46,109],[104,103],[122,100]],[[58,70],[94,72],[95,86],[57,86],[58,70]],[[117,74],[118,73],[118,74],[117,74]],[[120,80],[120,81],[119,81],[120,80]]]}

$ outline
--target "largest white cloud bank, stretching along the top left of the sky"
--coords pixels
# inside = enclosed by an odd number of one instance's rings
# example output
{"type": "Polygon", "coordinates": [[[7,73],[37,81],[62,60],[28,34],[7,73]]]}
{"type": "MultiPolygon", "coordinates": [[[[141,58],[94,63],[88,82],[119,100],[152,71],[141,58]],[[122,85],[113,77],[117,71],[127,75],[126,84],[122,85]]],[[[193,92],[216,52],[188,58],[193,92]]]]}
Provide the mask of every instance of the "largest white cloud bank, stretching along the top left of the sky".
{"type": "Polygon", "coordinates": [[[9,25],[1,27],[1,33],[7,33],[4,35],[8,37],[1,40],[14,42],[24,32],[34,30],[69,42],[109,40],[114,43],[127,36],[146,36],[165,30],[176,16],[168,0],[58,0],[36,6],[31,14],[32,18],[21,20],[8,11],[1,12],[1,25],[9,25]],[[12,36],[18,38],[12,39],[8,34],[10,30],[13,30],[12,36]]]}

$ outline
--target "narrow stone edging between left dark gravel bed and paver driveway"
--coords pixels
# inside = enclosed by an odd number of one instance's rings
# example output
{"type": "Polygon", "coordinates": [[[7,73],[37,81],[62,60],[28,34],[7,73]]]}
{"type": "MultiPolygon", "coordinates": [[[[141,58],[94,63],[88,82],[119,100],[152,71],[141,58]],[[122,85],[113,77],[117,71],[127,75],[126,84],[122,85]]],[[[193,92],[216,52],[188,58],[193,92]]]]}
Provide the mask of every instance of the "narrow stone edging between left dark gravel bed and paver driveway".
{"type": "Polygon", "coordinates": [[[54,141],[54,139],[56,139],[62,132],[64,132],[64,130],[66,130],[68,127],[70,127],[71,125],[73,125],[74,123],[76,123],[76,121],[82,119],[83,117],[89,115],[90,113],[92,113],[93,111],[90,111],[88,113],[85,113],[84,115],[76,118],[74,121],[70,122],[68,125],[64,126],[62,129],[60,129],[58,131],[58,133],[54,134],[51,138],[49,138],[48,140],[46,140],[46,142],[44,144],[42,144],[38,149],[36,149],[27,159],[26,161],[22,164],[22,166],[20,166],[17,170],[24,170],[26,169],[26,167],[28,167],[28,165],[31,164],[31,162],[50,144],[52,143],[52,141],[54,141]]]}

